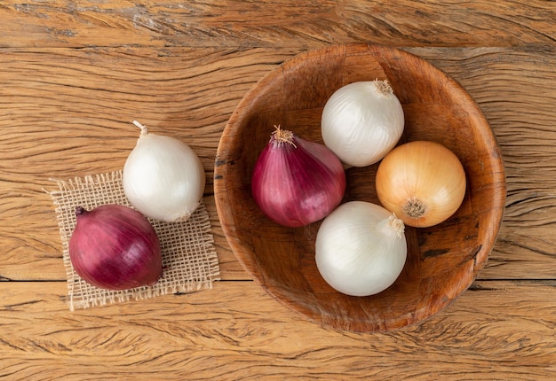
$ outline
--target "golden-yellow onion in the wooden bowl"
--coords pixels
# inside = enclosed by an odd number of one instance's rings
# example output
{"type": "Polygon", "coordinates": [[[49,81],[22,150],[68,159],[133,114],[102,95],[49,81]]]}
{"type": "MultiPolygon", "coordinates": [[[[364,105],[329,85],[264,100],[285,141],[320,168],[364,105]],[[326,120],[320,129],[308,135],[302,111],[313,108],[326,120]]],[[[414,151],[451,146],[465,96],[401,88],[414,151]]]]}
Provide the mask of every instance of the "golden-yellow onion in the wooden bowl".
{"type": "Polygon", "coordinates": [[[388,153],[377,169],[377,196],[406,225],[439,224],[461,206],[465,170],[457,156],[441,144],[416,141],[388,153]]]}

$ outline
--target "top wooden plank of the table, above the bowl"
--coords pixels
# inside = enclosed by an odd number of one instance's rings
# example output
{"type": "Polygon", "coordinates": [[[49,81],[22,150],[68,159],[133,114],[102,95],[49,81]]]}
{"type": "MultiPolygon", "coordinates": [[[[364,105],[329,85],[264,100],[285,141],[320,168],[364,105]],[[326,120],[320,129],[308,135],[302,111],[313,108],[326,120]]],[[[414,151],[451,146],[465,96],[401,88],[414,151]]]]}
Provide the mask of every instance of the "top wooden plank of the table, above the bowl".
{"type": "Polygon", "coordinates": [[[425,4],[363,0],[210,2],[4,1],[0,47],[316,47],[346,41],[394,46],[554,43],[552,2],[425,4]],[[349,22],[347,22],[349,20],[349,22]],[[488,26],[488,27],[483,27],[488,26]]]}

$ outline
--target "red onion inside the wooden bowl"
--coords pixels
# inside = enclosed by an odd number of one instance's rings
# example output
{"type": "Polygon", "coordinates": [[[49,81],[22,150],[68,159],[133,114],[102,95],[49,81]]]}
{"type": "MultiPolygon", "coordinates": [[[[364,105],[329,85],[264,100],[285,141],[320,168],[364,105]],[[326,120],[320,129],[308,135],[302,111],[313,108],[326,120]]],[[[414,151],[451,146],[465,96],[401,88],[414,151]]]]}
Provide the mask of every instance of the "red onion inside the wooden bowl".
{"type": "Polygon", "coordinates": [[[258,156],[251,191],[266,216],[295,228],[321,220],[339,205],[346,174],[324,145],[277,127],[258,156]]]}

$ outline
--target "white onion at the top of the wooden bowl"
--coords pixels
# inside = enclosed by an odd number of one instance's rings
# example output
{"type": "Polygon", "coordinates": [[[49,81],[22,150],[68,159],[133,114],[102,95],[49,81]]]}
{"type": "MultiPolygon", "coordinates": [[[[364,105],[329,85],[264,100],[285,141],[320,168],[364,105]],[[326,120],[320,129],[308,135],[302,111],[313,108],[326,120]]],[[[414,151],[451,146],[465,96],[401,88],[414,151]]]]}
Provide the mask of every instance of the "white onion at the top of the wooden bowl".
{"type": "Polygon", "coordinates": [[[387,81],[353,82],[338,89],[322,110],[322,140],[347,166],[376,163],[398,143],[403,109],[387,81]]]}

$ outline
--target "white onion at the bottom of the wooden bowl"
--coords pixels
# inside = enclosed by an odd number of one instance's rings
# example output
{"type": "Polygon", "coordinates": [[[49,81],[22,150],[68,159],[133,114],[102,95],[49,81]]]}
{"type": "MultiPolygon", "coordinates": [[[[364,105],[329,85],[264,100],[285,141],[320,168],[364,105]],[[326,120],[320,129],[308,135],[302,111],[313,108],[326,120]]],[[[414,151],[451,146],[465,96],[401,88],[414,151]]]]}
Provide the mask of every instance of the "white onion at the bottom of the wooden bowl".
{"type": "Polygon", "coordinates": [[[369,296],[400,276],[407,257],[404,225],[384,207],[364,201],[338,206],[317,233],[315,260],[338,292],[369,296]]]}

